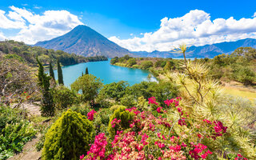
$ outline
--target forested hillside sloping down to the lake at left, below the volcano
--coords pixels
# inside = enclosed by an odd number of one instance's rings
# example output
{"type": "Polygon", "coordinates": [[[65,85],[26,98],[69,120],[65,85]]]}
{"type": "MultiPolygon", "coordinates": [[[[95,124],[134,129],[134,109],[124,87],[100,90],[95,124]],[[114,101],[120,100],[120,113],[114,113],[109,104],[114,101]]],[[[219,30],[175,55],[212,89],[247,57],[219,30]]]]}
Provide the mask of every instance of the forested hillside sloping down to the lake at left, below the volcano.
{"type": "Polygon", "coordinates": [[[47,50],[40,46],[28,46],[24,42],[13,40],[0,42],[0,54],[5,54],[4,58],[16,58],[20,62],[26,62],[29,66],[37,66],[37,56],[43,65],[48,65],[49,62],[55,64],[57,58],[63,66],[74,65],[80,62],[107,60],[104,56],[85,58],[76,54],[68,54],[62,50],[47,50]]]}

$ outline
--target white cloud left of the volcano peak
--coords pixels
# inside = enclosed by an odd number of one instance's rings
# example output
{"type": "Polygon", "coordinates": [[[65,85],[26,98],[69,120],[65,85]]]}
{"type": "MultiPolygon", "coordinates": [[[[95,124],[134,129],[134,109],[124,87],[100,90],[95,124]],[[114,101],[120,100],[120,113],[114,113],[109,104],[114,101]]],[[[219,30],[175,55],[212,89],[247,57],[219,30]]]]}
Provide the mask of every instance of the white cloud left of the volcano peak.
{"type": "Polygon", "coordinates": [[[43,14],[15,6],[10,6],[10,10],[8,14],[0,10],[0,29],[20,29],[17,35],[8,39],[27,44],[58,37],[83,24],[78,16],[66,10],[46,10],[43,14]]]}

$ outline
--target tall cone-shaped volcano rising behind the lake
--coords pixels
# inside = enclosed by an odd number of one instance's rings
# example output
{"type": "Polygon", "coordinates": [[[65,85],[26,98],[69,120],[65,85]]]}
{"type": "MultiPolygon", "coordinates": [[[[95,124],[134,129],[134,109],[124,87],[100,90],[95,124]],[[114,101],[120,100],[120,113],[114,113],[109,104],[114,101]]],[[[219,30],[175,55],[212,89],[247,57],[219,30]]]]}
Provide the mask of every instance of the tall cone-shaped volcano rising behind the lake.
{"type": "Polygon", "coordinates": [[[83,25],[76,26],[69,33],[60,37],[49,41],[37,42],[34,46],[63,50],[70,54],[74,53],[86,57],[104,55],[108,58],[114,58],[130,54],[129,50],[111,42],[89,26],[83,25]]]}

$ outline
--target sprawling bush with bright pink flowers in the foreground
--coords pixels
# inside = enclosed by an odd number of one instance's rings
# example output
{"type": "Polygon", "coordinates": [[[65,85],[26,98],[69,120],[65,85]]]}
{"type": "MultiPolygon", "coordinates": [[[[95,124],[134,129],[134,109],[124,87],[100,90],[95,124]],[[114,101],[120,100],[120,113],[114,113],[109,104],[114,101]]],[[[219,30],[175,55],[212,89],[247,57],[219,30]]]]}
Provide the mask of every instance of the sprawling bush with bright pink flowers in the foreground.
{"type": "MultiPolygon", "coordinates": [[[[227,127],[220,121],[195,121],[180,106],[182,98],[166,100],[168,110],[162,110],[155,98],[149,103],[158,106],[158,116],[136,107],[118,108],[110,117],[110,138],[95,137],[83,159],[212,159],[214,149],[205,142],[222,138],[227,127]],[[168,118],[177,114],[178,119],[168,118]],[[123,122],[125,124],[123,124],[123,122]],[[100,151],[101,150],[101,151],[100,151]]],[[[215,153],[216,154],[216,153],[215,153]]]]}

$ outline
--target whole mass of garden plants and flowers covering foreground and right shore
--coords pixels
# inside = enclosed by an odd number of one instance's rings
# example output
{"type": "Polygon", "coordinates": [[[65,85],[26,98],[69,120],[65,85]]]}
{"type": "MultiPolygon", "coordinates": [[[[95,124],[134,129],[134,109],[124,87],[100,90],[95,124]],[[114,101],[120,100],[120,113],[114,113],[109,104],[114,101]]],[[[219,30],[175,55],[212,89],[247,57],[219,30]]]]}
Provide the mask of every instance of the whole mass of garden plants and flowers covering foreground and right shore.
{"type": "MultiPolygon", "coordinates": [[[[34,77],[24,62],[0,57],[0,158],[22,152],[40,134],[42,160],[256,159],[255,103],[223,94],[210,74],[214,59],[187,60],[186,49],[180,46],[184,59],[174,63],[121,58],[161,77],[134,86],[103,85],[83,74],[69,88],[46,74],[39,59],[34,77]],[[29,102],[39,105],[40,115],[22,107],[29,102]]],[[[242,57],[250,54],[235,59],[242,57]]]]}

